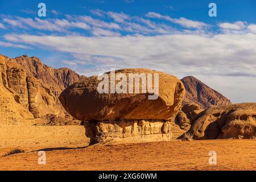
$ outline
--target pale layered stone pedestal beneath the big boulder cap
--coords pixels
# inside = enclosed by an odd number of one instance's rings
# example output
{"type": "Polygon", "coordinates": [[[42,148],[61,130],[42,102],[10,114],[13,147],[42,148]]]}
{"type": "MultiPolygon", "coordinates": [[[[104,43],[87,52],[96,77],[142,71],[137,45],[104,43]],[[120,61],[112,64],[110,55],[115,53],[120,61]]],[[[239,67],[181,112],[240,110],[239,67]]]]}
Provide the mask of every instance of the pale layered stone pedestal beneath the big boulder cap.
{"type": "Polygon", "coordinates": [[[90,144],[125,139],[129,142],[171,140],[172,122],[169,121],[100,121],[86,122],[86,137],[90,144]]]}

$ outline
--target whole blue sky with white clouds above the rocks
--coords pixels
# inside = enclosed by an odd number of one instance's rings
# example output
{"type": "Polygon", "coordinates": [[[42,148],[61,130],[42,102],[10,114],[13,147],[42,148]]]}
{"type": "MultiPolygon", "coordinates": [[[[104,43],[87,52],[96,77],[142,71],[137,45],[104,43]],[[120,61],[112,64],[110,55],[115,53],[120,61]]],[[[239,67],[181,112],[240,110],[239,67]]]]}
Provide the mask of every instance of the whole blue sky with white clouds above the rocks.
{"type": "Polygon", "coordinates": [[[192,75],[232,102],[256,102],[255,0],[40,2],[0,1],[1,54],[85,76],[119,68],[192,75]]]}

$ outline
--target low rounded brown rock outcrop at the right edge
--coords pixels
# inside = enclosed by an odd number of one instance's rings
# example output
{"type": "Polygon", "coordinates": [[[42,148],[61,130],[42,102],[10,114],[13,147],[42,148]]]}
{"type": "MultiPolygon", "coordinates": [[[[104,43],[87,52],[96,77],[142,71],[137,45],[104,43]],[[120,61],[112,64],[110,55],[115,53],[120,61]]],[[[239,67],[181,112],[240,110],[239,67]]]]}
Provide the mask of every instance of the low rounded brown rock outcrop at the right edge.
{"type": "Polygon", "coordinates": [[[193,119],[187,135],[195,139],[255,138],[256,103],[212,106],[193,119]]]}

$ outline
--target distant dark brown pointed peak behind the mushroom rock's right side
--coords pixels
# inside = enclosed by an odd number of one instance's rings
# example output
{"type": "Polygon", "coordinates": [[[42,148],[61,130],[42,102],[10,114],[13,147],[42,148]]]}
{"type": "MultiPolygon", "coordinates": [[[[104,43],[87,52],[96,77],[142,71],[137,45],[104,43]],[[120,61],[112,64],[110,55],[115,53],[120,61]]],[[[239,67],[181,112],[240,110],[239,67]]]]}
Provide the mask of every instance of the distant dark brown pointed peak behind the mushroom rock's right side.
{"type": "Polygon", "coordinates": [[[222,94],[213,90],[193,76],[184,77],[181,81],[186,89],[183,105],[197,104],[202,106],[204,109],[207,109],[213,105],[232,104],[228,98],[222,96],[222,94]]]}

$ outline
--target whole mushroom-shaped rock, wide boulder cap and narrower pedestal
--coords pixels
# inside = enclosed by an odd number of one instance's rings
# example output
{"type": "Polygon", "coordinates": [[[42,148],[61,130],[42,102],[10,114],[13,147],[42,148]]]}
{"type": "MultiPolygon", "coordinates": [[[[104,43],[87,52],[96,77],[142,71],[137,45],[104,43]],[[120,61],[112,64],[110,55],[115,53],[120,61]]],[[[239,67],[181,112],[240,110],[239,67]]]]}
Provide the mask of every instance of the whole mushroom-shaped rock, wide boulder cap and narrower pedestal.
{"type": "Polygon", "coordinates": [[[69,114],[84,121],[92,142],[129,137],[143,138],[143,140],[145,138],[169,140],[171,122],[179,112],[185,94],[182,82],[175,76],[149,69],[120,69],[115,71],[114,81],[112,74],[111,72],[105,73],[105,76],[108,76],[105,80],[108,83],[105,93],[98,92],[98,85],[102,80],[97,76],[92,76],[69,86],[59,97],[61,104],[69,114]],[[150,73],[151,78],[148,77],[150,73]],[[135,81],[135,74],[141,78],[139,87],[138,80],[135,81]],[[146,75],[146,80],[143,80],[143,74],[146,75]],[[117,79],[120,75],[123,76],[122,79],[117,79]],[[129,77],[130,75],[135,78],[129,77]],[[159,78],[158,86],[155,85],[155,75],[159,78]],[[113,82],[116,88],[118,83],[123,79],[126,80],[125,77],[129,82],[127,86],[121,86],[122,89],[125,88],[125,91],[110,92],[113,82]],[[130,84],[131,80],[133,81],[130,84]],[[145,81],[147,92],[142,92],[145,81]],[[149,99],[149,96],[155,93],[150,92],[148,88],[150,81],[152,81],[153,89],[159,90],[155,100],[149,99]],[[133,92],[128,92],[130,88],[133,92]],[[135,93],[135,88],[139,88],[139,93],[135,93]],[[145,137],[150,135],[155,135],[155,137],[145,137]]]}

